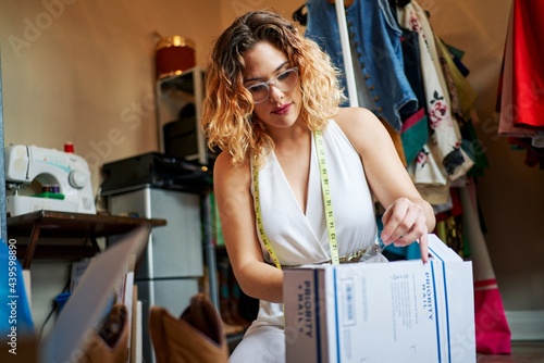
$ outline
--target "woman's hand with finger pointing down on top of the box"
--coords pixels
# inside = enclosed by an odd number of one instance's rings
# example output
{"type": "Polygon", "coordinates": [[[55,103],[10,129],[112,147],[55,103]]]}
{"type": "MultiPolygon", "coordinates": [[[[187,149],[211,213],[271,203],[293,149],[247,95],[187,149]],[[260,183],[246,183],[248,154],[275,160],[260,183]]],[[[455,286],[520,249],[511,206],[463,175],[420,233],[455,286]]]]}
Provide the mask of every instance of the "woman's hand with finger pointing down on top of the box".
{"type": "Polygon", "coordinates": [[[385,246],[393,243],[405,247],[419,241],[421,259],[429,261],[428,227],[423,208],[408,198],[398,198],[382,216],[382,240],[385,246]]]}

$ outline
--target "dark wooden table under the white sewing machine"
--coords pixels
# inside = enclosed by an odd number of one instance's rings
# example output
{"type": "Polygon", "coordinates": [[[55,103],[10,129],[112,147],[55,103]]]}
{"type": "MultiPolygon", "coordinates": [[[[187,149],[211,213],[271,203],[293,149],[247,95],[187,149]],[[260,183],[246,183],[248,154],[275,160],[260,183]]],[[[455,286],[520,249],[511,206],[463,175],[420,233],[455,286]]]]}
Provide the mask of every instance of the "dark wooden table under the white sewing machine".
{"type": "Polygon", "coordinates": [[[42,258],[95,255],[100,252],[97,238],[126,234],[141,225],[165,226],[166,220],[42,210],[8,217],[8,239],[28,238],[27,243],[21,243],[16,239],[17,258],[24,259],[23,268],[27,270],[35,255],[42,258]],[[54,239],[54,243],[38,243],[40,238],[54,239]],[[84,243],[79,246],[61,243],[62,239],[83,239],[84,243]],[[87,241],[90,241],[90,245],[87,241]]]}

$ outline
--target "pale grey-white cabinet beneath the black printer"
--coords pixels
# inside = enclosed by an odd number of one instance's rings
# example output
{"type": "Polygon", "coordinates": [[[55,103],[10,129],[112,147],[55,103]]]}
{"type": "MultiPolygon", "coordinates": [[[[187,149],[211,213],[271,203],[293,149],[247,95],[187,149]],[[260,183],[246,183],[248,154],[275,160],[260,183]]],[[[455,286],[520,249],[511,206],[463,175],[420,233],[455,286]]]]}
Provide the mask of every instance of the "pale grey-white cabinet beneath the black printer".
{"type": "MultiPolygon", "coordinates": [[[[149,331],[152,305],[181,316],[190,298],[199,291],[203,276],[200,197],[177,190],[144,187],[108,197],[112,214],[137,213],[147,218],[164,218],[164,227],[153,229],[138,261],[135,284],[143,310],[143,354],[154,363],[149,331]]],[[[114,242],[115,240],[113,240],[114,242]]]]}

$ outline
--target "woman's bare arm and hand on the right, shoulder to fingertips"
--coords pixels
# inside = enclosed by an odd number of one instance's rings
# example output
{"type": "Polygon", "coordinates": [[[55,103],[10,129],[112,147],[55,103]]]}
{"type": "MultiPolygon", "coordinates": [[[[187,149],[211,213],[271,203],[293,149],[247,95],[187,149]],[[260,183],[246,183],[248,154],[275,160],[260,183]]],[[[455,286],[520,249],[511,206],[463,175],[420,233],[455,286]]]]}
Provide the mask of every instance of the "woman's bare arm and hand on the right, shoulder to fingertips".
{"type": "Polygon", "coordinates": [[[419,240],[421,259],[428,262],[428,233],[436,223],[434,211],[413,185],[382,122],[361,108],[341,109],[335,120],[361,157],[370,188],[386,209],[383,242],[404,247],[419,240]]]}

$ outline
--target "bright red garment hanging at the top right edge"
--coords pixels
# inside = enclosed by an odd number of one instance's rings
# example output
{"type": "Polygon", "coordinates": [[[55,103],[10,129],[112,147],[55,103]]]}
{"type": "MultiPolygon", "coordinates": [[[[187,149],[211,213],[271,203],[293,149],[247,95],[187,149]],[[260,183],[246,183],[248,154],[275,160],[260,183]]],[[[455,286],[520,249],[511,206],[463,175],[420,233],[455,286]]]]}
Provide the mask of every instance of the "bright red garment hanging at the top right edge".
{"type": "Polygon", "coordinates": [[[544,1],[514,1],[514,126],[544,130],[544,1]]]}

